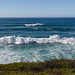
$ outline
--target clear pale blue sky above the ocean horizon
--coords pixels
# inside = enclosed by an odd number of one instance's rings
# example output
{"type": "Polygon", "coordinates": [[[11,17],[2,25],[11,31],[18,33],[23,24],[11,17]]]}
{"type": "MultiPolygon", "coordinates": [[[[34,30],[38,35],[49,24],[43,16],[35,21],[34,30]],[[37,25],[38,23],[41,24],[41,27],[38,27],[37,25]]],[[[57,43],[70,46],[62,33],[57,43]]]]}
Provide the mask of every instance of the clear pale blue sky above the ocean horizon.
{"type": "Polygon", "coordinates": [[[75,17],[75,0],[0,0],[0,17],[75,17]]]}

